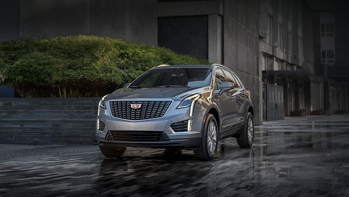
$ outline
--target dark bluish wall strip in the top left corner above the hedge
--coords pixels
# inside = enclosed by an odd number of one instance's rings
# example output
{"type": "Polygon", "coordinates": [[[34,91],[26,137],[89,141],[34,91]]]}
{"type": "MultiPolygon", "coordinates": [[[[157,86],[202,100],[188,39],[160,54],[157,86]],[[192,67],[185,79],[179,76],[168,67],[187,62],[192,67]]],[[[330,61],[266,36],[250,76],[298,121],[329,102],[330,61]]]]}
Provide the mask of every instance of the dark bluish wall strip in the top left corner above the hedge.
{"type": "Polygon", "coordinates": [[[0,6],[0,41],[18,38],[20,1],[1,1],[0,6]]]}

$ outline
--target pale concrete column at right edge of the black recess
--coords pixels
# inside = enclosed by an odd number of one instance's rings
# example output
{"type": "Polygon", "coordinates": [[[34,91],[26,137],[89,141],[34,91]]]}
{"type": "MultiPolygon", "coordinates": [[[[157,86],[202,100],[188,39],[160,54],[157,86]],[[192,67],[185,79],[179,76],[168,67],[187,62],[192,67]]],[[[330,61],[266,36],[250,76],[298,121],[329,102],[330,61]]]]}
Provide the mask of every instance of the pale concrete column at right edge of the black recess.
{"type": "Polygon", "coordinates": [[[222,17],[208,15],[208,61],[222,63],[222,17]]]}

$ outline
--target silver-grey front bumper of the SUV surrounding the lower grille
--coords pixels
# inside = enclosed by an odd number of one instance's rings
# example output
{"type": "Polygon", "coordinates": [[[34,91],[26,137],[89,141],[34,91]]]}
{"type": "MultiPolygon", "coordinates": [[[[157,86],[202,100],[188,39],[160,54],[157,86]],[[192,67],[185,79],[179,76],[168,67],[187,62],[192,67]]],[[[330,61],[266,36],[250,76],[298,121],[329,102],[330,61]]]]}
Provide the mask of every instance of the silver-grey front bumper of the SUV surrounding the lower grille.
{"type": "Polygon", "coordinates": [[[117,147],[198,147],[201,142],[201,127],[206,110],[195,109],[192,117],[188,117],[189,107],[176,109],[180,101],[173,101],[169,110],[162,118],[131,121],[112,117],[109,109],[109,102],[106,101],[106,109],[99,107],[97,117],[96,139],[100,146],[117,147]],[[172,123],[193,119],[192,130],[190,132],[172,132],[170,126],[172,123]],[[104,131],[98,130],[98,121],[105,123],[104,131]],[[162,142],[130,142],[107,140],[106,134],[109,130],[119,131],[164,131],[170,138],[170,141],[162,142]]]}

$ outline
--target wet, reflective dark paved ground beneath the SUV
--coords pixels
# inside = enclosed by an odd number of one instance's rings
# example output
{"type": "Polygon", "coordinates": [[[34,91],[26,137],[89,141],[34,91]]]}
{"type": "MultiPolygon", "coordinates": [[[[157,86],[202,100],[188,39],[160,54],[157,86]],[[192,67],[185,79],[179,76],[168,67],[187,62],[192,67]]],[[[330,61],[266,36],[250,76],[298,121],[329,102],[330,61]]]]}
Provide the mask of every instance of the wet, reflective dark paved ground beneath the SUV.
{"type": "Polygon", "coordinates": [[[0,145],[10,158],[0,159],[0,196],[349,196],[349,116],[267,122],[254,141],[242,149],[225,139],[212,161],[192,151],[107,159],[97,146],[0,145]]]}

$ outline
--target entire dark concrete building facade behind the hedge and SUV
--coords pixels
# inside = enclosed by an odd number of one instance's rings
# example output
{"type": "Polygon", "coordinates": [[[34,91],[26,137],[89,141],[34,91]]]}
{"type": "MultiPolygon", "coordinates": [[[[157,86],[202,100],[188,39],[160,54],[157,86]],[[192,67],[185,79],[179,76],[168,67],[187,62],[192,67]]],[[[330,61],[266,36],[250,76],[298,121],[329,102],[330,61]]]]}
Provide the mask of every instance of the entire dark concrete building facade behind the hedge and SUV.
{"type": "MultiPolygon", "coordinates": [[[[314,5],[311,0],[13,0],[0,7],[0,26],[6,27],[0,40],[97,35],[221,63],[252,92],[255,124],[261,124],[329,102],[324,95],[334,86],[324,83],[322,67],[314,65],[319,50],[332,45],[317,39],[314,21],[336,17],[315,17],[314,5]]],[[[331,55],[326,53],[327,62],[331,55]]],[[[348,93],[344,96],[339,97],[348,100],[348,93]]]]}

